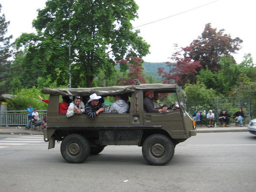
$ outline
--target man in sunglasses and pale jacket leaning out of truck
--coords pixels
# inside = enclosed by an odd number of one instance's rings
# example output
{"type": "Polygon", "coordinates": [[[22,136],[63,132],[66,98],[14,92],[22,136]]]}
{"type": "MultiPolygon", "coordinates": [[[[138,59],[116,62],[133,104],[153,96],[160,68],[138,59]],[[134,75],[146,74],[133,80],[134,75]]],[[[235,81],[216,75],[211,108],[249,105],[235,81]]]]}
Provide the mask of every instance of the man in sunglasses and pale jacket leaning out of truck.
{"type": "Polygon", "coordinates": [[[67,109],[67,117],[71,117],[74,114],[82,114],[84,113],[84,103],[81,101],[80,96],[75,96],[74,101],[72,101],[67,109]]]}

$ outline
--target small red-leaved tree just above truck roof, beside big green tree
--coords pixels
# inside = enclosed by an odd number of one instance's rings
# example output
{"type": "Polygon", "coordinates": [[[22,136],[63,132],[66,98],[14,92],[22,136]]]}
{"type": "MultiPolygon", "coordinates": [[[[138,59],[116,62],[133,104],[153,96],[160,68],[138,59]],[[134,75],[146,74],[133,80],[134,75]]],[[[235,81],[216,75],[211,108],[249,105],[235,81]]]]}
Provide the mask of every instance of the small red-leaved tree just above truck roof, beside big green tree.
{"type": "Polygon", "coordinates": [[[120,78],[117,81],[117,85],[133,85],[136,83],[135,79],[138,79],[141,83],[146,83],[145,78],[142,76],[144,63],[143,59],[137,57],[127,57],[120,61],[116,61],[120,64],[120,71],[130,70],[128,78],[120,78]]]}

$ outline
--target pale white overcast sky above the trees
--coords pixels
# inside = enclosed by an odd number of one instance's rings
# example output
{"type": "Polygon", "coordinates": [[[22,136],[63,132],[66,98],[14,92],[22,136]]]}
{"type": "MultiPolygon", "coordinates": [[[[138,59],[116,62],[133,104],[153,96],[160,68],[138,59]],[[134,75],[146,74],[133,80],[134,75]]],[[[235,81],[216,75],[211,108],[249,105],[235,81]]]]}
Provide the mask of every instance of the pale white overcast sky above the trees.
{"type": "MultiPolygon", "coordinates": [[[[35,32],[32,20],[37,9],[44,8],[46,0],[1,0],[2,11],[10,21],[8,35],[13,40],[22,33],[35,32]]],[[[166,62],[175,52],[174,44],[186,47],[199,37],[205,24],[211,23],[218,31],[243,40],[242,49],[233,54],[237,63],[245,54],[252,54],[256,63],[256,1],[253,0],[135,0],[138,4],[138,19],[132,21],[135,29],[151,45],[150,54],[143,57],[146,62],[166,62]],[[208,5],[205,5],[210,3],[208,5]],[[205,5],[205,6],[203,6],[205,5]],[[202,6],[202,7],[200,7],[202,6]],[[191,10],[195,7],[197,9],[191,10]],[[182,13],[184,11],[188,12],[182,13]],[[181,14],[178,14],[181,13],[181,14]],[[178,15],[175,15],[178,14],[178,15]],[[173,17],[170,17],[175,15],[173,17]],[[169,17],[165,20],[160,20],[169,17]],[[158,22],[147,24],[155,20],[158,22]],[[143,24],[145,26],[137,27],[143,24]]]]}

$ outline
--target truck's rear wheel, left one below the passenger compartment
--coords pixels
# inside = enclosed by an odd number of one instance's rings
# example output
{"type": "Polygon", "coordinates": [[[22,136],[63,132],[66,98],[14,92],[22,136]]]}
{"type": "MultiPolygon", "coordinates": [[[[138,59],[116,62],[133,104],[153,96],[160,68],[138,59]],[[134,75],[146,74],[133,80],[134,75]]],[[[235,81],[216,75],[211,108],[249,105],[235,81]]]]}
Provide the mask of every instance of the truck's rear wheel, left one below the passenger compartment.
{"type": "Polygon", "coordinates": [[[67,135],[61,142],[61,155],[69,163],[81,163],[89,154],[90,144],[82,135],[67,135]]]}

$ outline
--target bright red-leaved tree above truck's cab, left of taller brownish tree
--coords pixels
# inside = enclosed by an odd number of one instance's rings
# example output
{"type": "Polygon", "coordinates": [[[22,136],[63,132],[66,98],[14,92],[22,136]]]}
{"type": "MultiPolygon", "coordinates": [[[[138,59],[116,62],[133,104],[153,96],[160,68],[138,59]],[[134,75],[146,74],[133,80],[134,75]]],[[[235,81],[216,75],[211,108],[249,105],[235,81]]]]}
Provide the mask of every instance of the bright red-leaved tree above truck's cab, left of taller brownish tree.
{"type": "MultiPolygon", "coordinates": [[[[175,45],[177,47],[177,45],[175,45]]],[[[165,84],[176,83],[184,87],[186,83],[195,83],[196,69],[202,67],[200,61],[193,61],[189,57],[191,47],[181,48],[175,52],[170,58],[172,62],[166,62],[169,71],[164,71],[164,68],[158,67],[158,75],[162,76],[162,82],[165,84]]]]}

